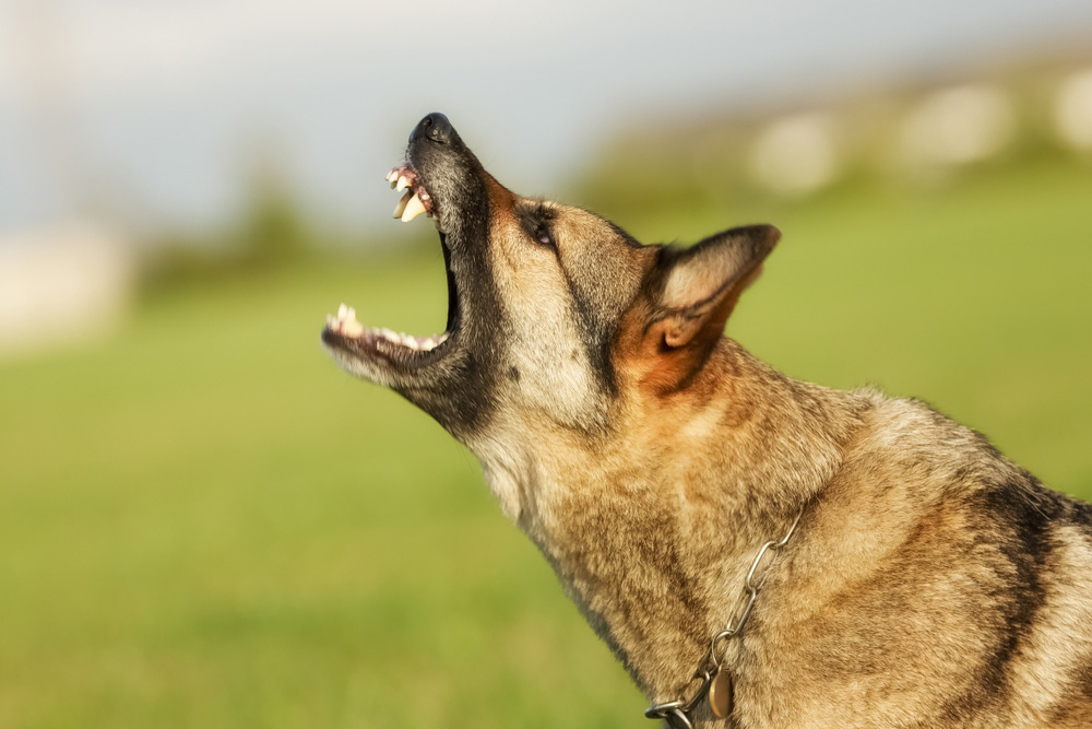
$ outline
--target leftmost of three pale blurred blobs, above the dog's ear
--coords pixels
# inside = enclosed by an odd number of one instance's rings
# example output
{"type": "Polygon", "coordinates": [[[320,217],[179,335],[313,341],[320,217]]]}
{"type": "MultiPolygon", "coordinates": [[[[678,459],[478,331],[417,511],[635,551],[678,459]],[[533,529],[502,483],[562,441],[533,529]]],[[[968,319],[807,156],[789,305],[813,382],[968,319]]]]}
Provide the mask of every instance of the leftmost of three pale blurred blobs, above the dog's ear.
{"type": "Polygon", "coordinates": [[[751,169],[771,190],[800,195],[829,184],[838,173],[834,120],[827,114],[782,117],[759,133],[751,169]]]}

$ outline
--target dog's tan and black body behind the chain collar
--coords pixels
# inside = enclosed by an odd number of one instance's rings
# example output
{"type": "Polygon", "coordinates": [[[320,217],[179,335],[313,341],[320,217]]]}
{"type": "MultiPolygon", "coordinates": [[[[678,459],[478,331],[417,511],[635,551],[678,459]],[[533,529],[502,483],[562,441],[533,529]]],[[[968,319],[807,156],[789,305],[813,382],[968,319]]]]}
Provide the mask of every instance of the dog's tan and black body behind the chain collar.
{"type": "Polygon", "coordinates": [[[1092,506],[919,402],[867,397],[753,626],[808,667],[780,686],[784,724],[1092,727],[1092,506]]]}

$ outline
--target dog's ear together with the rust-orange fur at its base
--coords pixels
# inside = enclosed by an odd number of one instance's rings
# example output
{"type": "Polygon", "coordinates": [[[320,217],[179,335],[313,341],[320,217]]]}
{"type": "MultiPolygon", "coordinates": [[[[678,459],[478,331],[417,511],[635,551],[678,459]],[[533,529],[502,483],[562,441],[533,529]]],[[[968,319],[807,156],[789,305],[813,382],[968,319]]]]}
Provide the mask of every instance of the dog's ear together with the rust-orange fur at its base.
{"type": "Polygon", "coordinates": [[[701,367],[779,238],[781,231],[772,225],[749,225],[687,249],[661,249],[650,273],[638,344],[648,365],[645,379],[656,389],[685,385],[701,367]]]}

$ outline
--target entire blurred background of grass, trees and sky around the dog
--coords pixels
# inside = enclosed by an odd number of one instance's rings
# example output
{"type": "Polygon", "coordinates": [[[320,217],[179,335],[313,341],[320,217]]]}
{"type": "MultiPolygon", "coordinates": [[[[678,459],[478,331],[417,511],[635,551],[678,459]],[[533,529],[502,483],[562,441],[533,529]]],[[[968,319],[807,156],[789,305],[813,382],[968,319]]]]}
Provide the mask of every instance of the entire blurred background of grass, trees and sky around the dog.
{"type": "Polygon", "coordinates": [[[770,222],[728,326],[1092,497],[1087,0],[0,0],[0,727],[622,727],[473,456],[319,346],[430,333],[383,181],[448,114],[644,242],[770,222]]]}

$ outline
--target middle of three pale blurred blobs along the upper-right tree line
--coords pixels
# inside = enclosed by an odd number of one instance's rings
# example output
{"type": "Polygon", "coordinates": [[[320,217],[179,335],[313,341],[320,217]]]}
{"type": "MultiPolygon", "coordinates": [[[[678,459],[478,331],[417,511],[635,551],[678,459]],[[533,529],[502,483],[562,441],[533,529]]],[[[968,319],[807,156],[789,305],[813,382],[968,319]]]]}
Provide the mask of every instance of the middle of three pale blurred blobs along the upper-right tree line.
{"type": "Polygon", "coordinates": [[[1012,99],[988,84],[930,94],[906,119],[902,152],[912,167],[947,167],[987,160],[1016,133],[1012,99]]]}

